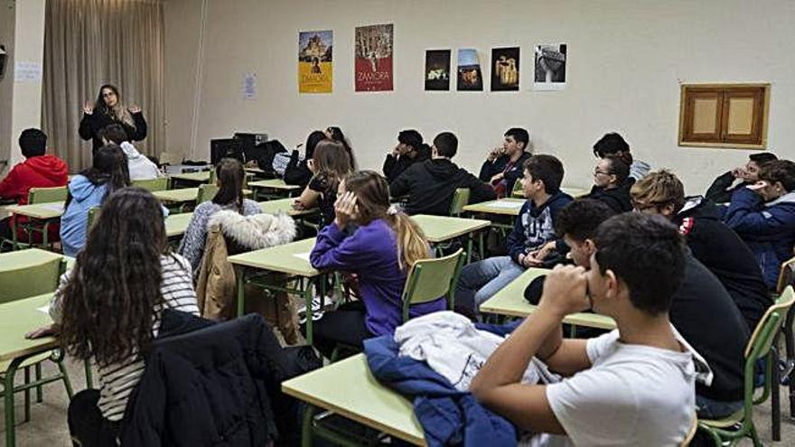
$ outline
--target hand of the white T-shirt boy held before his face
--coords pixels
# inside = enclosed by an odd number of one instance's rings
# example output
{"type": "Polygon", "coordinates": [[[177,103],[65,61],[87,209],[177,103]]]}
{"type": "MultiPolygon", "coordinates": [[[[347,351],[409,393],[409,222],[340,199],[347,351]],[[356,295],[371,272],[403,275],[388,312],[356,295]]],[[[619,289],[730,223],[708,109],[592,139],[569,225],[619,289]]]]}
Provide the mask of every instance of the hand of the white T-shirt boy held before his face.
{"type": "Polygon", "coordinates": [[[583,312],[591,307],[588,299],[588,277],[585,268],[557,265],[544,281],[540,309],[563,319],[566,315],[583,312]]]}

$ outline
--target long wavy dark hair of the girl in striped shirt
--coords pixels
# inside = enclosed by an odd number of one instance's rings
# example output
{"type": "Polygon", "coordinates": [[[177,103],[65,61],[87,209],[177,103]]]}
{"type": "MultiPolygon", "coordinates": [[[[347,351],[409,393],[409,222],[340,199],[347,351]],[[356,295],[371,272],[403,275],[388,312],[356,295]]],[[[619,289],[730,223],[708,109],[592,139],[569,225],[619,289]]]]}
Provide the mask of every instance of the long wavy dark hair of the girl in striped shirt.
{"type": "Polygon", "coordinates": [[[149,348],[165,247],[163,211],[151,192],[124,188],[108,197],[63,291],[67,352],[105,367],[149,348]]]}

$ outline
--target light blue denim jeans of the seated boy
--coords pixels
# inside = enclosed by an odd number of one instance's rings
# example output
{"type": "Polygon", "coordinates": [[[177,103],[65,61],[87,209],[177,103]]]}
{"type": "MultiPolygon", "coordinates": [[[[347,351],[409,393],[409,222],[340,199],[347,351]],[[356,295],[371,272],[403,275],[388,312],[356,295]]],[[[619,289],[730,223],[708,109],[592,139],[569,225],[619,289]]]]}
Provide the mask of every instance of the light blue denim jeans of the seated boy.
{"type": "Polygon", "coordinates": [[[478,313],[481,304],[525,271],[510,256],[496,256],[465,265],[455,290],[455,303],[478,313]]]}

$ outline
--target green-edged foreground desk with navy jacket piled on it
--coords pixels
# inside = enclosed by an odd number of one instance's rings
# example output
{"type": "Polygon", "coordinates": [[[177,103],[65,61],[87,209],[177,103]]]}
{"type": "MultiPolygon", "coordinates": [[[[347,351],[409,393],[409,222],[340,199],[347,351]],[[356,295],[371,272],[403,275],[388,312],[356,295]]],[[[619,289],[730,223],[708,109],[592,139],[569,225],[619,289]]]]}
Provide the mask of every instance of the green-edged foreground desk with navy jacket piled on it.
{"type": "MultiPolygon", "coordinates": [[[[364,354],[357,354],[282,383],[282,391],[311,405],[388,433],[414,445],[426,445],[411,402],[379,384],[364,354]]],[[[307,411],[307,414],[312,412],[307,411]]],[[[304,420],[302,439],[311,442],[304,420]]]]}

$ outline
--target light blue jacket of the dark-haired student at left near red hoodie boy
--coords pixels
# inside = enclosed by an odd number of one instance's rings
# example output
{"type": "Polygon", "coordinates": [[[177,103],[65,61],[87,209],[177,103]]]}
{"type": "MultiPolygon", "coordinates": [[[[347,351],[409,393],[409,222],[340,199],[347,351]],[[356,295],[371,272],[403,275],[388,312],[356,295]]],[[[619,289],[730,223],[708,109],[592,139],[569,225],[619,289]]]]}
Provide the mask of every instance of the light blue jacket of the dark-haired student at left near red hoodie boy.
{"type": "Polygon", "coordinates": [[[86,245],[89,209],[98,207],[108,192],[107,184],[94,184],[88,177],[75,175],[69,182],[71,201],[61,216],[61,246],[66,256],[77,256],[86,245]]]}

